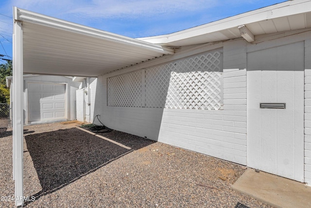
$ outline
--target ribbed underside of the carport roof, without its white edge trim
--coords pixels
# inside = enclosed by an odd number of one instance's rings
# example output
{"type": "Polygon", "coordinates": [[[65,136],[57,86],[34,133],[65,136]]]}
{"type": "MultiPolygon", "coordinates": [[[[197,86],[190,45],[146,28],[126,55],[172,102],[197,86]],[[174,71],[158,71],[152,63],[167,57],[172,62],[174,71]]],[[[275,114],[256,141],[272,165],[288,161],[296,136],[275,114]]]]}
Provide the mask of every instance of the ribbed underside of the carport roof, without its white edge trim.
{"type": "Polygon", "coordinates": [[[24,72],[99,76],[163,54],[33,23],[23,24],[24,72]]]}

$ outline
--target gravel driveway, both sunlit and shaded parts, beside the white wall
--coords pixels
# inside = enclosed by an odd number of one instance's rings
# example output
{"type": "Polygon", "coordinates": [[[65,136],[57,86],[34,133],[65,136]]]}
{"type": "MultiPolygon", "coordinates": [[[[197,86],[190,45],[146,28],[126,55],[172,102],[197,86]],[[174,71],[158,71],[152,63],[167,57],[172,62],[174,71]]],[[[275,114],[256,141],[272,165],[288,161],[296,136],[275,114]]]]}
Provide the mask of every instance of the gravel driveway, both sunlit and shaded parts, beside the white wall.
{"type": "MultiPolygon", "coordinates": [[[[233,189],[244,167],[124,132],[78,124],[24,127],[24,196],[29,208],[250,208],[270,206],[233,189]]],[[[13,196],[12,129],[0,129],[0,196],[13,196]]],[[[3,198],[2,197],[2,198],[3,198]]],[[[14,207],[0,201],[0,208],[14,207]]]]}

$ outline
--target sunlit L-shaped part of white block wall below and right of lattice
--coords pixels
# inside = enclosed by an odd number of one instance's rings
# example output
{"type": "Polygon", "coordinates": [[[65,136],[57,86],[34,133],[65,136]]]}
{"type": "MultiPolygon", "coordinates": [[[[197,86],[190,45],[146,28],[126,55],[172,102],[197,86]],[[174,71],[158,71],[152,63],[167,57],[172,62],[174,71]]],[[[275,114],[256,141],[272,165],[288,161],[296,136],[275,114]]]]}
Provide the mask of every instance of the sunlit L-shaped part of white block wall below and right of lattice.
{"type": "Polygon", "coordinates": [[[246,70],[223,77],[224,110],[164,109],[158,141],[246,165],[246,70]]]}

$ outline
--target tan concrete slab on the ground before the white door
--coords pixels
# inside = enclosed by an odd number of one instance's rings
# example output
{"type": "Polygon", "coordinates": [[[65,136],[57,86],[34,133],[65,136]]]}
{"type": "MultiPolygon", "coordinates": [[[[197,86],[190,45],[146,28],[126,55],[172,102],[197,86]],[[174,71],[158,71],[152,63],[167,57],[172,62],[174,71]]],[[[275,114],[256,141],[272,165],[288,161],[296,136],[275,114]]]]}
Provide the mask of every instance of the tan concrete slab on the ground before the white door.
{"type": "Polygon", "coordinates": [[[248,168],[232,188],[279,208],[311,208],[311,187],[248,168]]]}

